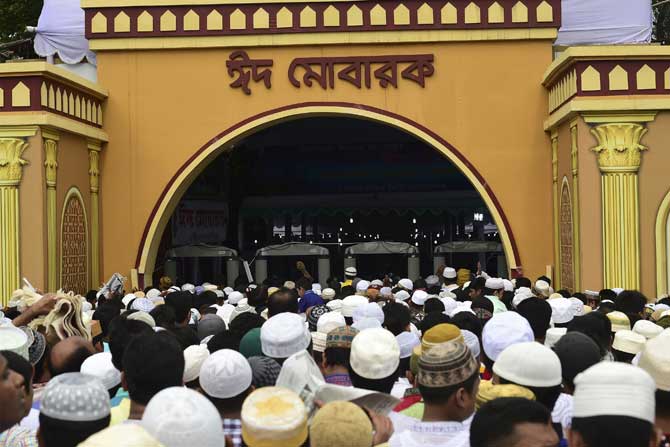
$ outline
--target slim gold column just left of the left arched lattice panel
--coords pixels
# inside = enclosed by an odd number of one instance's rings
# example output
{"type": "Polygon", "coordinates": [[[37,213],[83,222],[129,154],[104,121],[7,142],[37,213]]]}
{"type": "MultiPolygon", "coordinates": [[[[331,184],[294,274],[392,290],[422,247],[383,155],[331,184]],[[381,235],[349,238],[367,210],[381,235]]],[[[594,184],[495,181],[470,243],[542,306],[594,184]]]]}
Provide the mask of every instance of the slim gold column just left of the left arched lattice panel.
{"type": "Polygon", "coordinates": [[[56,171],[58,169],[58,133],[42,129],[44,169],[47,183],[47,290],[58,289],[58,245],[56,221],[56,171]]]}

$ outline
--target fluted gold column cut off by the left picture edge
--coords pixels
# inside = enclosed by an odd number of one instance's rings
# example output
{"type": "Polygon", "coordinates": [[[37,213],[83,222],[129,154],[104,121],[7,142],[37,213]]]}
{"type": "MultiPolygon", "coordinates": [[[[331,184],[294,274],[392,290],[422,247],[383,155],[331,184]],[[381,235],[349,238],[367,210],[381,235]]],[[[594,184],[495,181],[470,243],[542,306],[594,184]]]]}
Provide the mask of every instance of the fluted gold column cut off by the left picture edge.
{"type": "Polygon", "coordinates": [[[28,147],[24,136],[34,135],[35,131],[24,133],[20,129],[8,129],[0,132],[0,302],[7,303],[12,292],[21,283],[19,253],[19,184],[23,176],[23,166],[27,163],[21,158],[28,147]]]}

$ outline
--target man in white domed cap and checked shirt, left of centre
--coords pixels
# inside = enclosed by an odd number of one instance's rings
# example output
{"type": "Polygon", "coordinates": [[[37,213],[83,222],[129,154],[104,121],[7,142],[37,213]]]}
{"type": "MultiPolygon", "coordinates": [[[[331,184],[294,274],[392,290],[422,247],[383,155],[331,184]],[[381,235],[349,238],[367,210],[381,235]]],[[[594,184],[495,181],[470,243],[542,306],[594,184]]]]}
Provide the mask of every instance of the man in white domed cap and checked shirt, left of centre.
{"type": "Polygon", "coordinates": [[[223,431],[233,445],[242,445],[240,413],[244,399],[253,391],[253,374],[242,354],[221,349],[210,355],[200,368],[200,387],[223,420],[223,431]]]}

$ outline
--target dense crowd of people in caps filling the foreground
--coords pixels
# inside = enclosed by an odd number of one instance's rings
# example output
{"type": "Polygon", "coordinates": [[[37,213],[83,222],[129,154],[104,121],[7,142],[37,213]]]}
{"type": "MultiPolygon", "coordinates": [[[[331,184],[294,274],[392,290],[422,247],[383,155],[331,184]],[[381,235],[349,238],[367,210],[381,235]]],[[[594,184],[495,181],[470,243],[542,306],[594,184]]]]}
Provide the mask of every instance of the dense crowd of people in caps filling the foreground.
{"type": "Polygon", "coordinates": [[[441,267],[85,296],[0,318],[0,447],[670,447],[670,298],[441,267]]]}

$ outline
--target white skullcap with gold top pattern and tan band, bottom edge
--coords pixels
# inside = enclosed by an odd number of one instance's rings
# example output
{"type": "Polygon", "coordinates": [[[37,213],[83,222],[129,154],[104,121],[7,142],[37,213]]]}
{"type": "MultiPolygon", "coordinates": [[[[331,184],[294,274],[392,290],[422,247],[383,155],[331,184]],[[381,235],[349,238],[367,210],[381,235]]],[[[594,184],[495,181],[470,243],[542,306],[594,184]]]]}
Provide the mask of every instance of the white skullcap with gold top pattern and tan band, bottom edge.
{"type": "Polygon", "coordinates": [[[269,386],[242,404],[242,439],[249,447],[299,447],[307,439],[307,410],[295,392],[269,386]]]}

